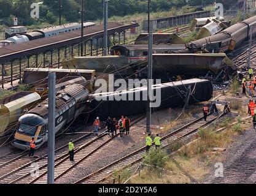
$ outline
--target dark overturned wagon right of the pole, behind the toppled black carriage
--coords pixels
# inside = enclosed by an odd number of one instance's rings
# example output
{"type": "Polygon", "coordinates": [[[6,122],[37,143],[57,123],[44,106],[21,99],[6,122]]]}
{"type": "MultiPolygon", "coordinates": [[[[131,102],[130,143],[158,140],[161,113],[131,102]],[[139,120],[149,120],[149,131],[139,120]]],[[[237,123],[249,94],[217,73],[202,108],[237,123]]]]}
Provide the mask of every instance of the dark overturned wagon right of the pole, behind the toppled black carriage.
{"type": "Polygon", "coordinates": [[[217,74],[223,69],[235,70],[233,62],[225,53],[203,54],[154,54],[153,75],[166,73],[171,75],[217,74]]]}

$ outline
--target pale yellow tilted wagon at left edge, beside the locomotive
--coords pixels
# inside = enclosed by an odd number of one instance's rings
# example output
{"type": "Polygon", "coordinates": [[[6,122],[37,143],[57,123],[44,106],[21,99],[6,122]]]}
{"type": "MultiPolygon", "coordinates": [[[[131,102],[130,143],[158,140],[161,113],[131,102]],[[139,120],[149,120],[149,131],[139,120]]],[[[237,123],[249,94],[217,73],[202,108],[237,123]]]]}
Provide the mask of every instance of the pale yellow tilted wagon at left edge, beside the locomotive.
{"type": "Polygon", "coordinates": [[[18,118],[40,102],[36,92],[18,92],[0,100],[0,135],[10,134],[16,128],[18,118]]]}

